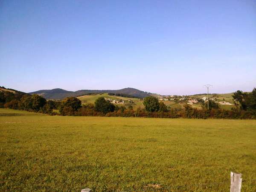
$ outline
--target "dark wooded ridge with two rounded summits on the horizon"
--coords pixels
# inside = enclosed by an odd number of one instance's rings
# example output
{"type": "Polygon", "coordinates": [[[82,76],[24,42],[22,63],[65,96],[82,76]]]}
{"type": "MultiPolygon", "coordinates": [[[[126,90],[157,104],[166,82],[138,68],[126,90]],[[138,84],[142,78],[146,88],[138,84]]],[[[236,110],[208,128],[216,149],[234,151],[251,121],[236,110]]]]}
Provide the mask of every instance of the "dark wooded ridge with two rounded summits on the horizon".
{"type": "Polygon", "coordinates": [[[78,91],[67,91],[64,89],[52,89],[52,90],[38,90],[35,92],[31,92],[29,94],[38,94],[45,99],[64,99],[69,96],[82,96],[82,95],[88,95],[90,93],[116,93],[116,94],[126,94],[131,97],[139,97],[144,98],[146,96],[150,96],[151,93],[141,91],[134,88],[124,88],[120,90],[78,90],[78,91]]]}

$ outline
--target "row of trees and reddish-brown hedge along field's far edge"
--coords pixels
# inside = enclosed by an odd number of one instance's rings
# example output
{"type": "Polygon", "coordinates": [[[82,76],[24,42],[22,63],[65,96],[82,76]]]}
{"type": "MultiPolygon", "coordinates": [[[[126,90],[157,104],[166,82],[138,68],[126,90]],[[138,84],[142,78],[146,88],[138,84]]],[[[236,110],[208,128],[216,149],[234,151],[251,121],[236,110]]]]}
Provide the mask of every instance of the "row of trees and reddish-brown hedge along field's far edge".
{"type": "Polygon", "coordinates": [[[235,107],[231,110],[221,109],[218,103],[209,100],[201,102],[201,109],[184,105],[182,109],[168,108],[163,102],[159,102],[154,96],[143,99],[145,108],[134,110],[132,106],[125,108],[113,105],[104,97],[96,99],[94,104],[81,105],[76,97],[67,97],[60,101],[46,100],[39,95],[26,93],[0,92],[0,107],[20,109],[57,115],[54,109],[58,109],[63,116],[123,116],[123,117],[159,117],[159,118],[221,118],[221,119],[256,119],[256,88],[251,93],[240,90],[233,95],[235,107]]]}

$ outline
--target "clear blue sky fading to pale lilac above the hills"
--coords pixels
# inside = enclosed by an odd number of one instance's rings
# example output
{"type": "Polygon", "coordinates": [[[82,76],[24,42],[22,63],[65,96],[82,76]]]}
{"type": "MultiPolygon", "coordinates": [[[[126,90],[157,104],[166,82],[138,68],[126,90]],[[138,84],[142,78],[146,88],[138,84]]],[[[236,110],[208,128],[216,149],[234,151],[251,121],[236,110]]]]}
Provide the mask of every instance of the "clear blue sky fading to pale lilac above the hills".
{"type": "Polygon", "coordinates": [[[255,0],[0,0],[0,85],[212,93],[256,87],[255,0]]]}

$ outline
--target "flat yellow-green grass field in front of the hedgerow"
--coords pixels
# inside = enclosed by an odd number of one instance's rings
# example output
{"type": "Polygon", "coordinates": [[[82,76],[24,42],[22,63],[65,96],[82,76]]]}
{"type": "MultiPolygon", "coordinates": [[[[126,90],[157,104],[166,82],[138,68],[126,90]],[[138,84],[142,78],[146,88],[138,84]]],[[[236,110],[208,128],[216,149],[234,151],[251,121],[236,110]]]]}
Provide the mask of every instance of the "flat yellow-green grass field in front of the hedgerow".
{"type": "Polygon", "coordinates": [[[256,191],[256,120],[0,109],[0,191],[256,191]],[[18,114],[18,115],[17,115],[18,114]]]}

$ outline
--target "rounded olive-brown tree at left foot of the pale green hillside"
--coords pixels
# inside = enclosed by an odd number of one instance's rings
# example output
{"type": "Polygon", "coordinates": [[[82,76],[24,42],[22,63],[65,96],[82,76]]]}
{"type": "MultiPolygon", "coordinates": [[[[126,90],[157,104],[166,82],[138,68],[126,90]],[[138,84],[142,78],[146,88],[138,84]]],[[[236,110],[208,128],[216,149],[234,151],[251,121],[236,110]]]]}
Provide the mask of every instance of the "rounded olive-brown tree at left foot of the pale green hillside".
{"type": "Polygon", "coordinates": [[[81,101],[76,97],[67,97],[63,99],[60,106],[61,115],[74,115],[81,108],[81,101]]]}

